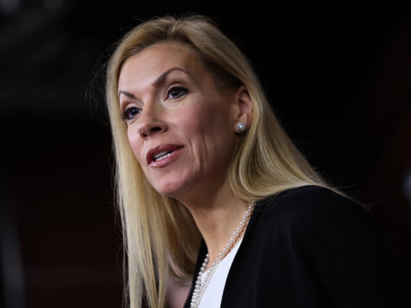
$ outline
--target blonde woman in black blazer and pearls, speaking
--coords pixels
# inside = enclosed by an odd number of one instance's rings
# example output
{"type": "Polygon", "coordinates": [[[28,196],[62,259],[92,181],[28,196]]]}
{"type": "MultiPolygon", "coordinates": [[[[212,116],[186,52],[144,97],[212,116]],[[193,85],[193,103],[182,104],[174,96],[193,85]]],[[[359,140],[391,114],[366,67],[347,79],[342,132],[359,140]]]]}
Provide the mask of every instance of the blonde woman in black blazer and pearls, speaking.
{"type": "Polygon", "coordinates": [[[131,307],[410,307],[379,223],[307,163],[212,21],[129,31],[107,103],[131,307]]]}

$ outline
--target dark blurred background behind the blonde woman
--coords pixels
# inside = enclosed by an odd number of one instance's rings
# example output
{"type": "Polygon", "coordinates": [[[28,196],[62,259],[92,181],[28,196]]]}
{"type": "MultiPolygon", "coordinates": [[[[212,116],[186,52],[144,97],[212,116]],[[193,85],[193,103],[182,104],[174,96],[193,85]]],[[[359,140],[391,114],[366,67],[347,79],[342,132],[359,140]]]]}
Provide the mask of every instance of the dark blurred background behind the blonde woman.
{"type": "Polygon", "coordinates": [[[0,307],[121,307],[101,69],[140,20],[213,17],[310,162],[411,277],[411,6],[0,0],[0,307]]]}

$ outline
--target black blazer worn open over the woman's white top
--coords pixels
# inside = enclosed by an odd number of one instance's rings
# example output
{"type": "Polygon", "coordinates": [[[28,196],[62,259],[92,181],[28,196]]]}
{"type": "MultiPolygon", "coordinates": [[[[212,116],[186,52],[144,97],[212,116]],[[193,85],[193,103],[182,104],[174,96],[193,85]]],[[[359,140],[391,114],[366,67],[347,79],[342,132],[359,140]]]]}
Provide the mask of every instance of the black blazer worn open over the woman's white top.
{"type": "MultiPolygon", "coordinates": [[[[196,273],[205,253],[203,241],[196,273]]],[[[221,307],[411,308],[410,295],[409,277],[379,221],[363,206],[310,185],[256,204],[221,307]]]]}

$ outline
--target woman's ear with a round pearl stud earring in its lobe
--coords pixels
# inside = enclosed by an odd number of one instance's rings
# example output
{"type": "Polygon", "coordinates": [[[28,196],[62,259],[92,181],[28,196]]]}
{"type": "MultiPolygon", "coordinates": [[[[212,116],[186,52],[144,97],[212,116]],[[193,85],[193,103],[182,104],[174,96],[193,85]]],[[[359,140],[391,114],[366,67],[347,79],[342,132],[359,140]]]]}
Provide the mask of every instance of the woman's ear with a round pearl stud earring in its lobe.
{"type": "Polygon", "coordinates": [[[253,119],[253,104],[245,86],[238,87],[235,93],[234,124],[236,133],[246,132],[253,119]]]}

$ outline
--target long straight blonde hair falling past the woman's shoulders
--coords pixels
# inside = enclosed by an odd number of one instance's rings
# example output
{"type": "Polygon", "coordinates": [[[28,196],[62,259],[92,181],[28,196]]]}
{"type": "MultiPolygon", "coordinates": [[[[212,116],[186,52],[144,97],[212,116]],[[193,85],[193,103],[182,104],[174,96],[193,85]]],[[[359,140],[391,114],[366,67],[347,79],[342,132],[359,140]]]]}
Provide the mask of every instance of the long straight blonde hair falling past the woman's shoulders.
{"type": "Polygon", "coordinates": [[[155,17],[118,42],[108,62],[106,99],[116,157],[116,198],[122,217],[128,273],[129,304],[165,307],[166,279],[181,270],[194,274],[201,235],[188,209],[160,195],[148,183],[120,120],[118,78],[123,63],[142,49],[162,41],[190,45],[217,79],[233,80],[247,89],[253,118],[229,166],[232,190],[243,200],[260,200],[288,188],[327,186],[300,154],[276,119],[250,62],[214,22],[202,15],[155,17]]]}

